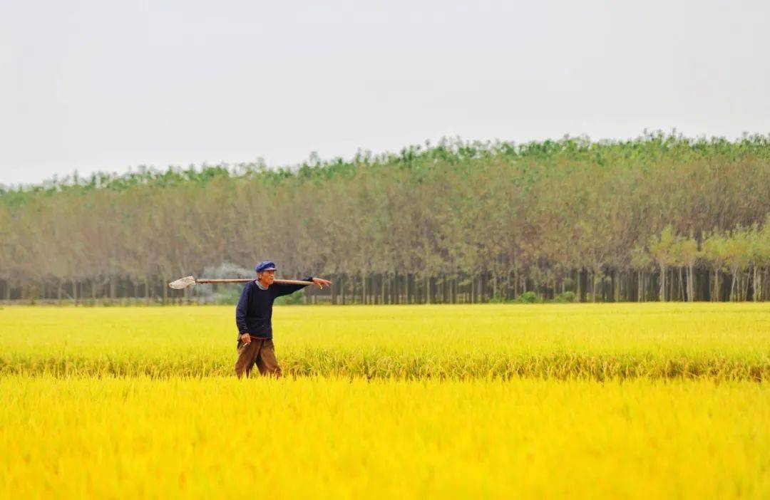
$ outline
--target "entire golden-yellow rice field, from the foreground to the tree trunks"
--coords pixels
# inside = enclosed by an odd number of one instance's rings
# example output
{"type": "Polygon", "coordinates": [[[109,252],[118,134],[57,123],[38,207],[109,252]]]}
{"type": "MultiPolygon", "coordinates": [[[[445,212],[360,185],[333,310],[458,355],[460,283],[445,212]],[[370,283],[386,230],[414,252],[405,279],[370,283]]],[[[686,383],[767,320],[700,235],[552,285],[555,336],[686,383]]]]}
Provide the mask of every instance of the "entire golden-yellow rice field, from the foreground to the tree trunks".
{"type": "Polygon", "coordinates": [[[770,305],[0,309],[0,498],[768,498],[770,305]]]}

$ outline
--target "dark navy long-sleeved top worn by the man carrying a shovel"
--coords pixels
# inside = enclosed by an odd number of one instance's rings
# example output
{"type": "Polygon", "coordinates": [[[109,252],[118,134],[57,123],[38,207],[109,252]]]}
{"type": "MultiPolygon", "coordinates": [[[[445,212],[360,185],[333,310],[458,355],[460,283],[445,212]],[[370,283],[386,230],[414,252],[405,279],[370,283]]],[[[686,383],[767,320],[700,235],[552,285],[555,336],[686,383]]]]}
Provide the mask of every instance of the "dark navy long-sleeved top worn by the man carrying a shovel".
{"type": "MultiPolygon", "coordinates": [[[[313,278],[304,278],[304,281],[310,282],[313,278]]],[[[256,279],[246,283],[236,306],[238,335],[248,333],[253,337],[273,338],[273,301],[306,286],[273,283],[263,290],[256,279]]]]}

